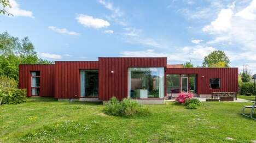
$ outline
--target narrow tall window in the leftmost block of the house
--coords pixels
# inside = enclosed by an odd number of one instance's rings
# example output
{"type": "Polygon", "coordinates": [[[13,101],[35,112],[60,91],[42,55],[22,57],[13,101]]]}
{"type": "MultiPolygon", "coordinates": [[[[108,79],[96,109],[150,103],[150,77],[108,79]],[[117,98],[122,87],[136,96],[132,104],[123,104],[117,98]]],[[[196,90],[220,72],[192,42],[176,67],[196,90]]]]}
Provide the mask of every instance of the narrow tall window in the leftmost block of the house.
{"type": "Polygon", "coordinates": [[[31,96],[39,96],[40,92],[40,72],[31,72],[31,96]]]}

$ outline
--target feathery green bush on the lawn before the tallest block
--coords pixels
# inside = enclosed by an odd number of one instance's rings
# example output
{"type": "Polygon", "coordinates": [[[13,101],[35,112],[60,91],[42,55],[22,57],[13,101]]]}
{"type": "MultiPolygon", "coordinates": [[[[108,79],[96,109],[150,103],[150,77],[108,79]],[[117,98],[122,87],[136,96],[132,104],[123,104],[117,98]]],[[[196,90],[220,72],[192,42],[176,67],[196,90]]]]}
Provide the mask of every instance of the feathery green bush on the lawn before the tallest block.
{"type": "Polygon", "coordinates": [[[146,116],[150,114],[149,110],[142,108],[138,102],[126,98],[119,102],[116,97],[112,97],[106,104],[104,113],[123,117],[146,116]]]}

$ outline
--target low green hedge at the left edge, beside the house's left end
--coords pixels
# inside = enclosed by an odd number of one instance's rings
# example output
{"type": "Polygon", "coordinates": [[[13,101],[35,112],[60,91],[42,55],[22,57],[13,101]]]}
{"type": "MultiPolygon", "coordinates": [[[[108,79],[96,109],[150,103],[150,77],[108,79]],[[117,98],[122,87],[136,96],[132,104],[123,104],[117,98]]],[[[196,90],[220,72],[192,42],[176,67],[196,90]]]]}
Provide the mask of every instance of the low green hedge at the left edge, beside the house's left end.
{"type": "Polygon", "coordinates": [[[26,89],[2,88],[0,89],[1,104],[20,104],[26,102],[26,89]]]}

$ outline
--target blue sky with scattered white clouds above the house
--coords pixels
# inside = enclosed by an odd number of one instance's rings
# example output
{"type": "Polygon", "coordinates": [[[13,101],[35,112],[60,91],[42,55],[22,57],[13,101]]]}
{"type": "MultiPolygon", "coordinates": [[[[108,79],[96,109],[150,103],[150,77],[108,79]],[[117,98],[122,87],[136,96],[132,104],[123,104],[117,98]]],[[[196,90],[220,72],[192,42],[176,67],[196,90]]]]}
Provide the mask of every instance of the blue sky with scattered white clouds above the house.
{"type": "Polygon", "coordinates": [[[48,60],[167,57],[169,64],[220,49],[231,66],[256,72],[256,0],[9,0],[0,32],[28,36],[48,60]]]}

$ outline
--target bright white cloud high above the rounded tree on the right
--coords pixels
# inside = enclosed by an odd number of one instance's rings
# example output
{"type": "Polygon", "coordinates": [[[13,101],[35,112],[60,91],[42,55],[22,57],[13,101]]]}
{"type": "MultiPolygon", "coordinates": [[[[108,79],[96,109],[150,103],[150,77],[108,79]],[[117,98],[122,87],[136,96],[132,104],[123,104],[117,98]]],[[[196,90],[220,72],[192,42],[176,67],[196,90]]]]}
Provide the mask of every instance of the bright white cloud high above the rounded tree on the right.
{"type": "Polygon", "coordinates": [[[216,20],[203,27],[203,32],[223,32],[231,28],[232,9],[222,9],[216,20]]]}

